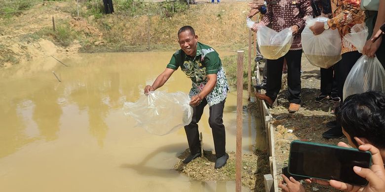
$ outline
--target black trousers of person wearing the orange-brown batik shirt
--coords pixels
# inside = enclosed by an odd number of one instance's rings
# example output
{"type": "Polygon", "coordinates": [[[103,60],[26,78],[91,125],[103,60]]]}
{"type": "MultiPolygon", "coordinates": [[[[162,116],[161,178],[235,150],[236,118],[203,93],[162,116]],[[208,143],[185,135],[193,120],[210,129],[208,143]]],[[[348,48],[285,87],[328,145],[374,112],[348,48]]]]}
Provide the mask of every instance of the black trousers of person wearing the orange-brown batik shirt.
{"type": "Polygon", "coordinates": [[[341,61],[334,64],[334,71],[337,77],[337,90],[338,96],[341,98],[341,102],[343,102],[343,89],[344,83],[347,75],[349,74],[351,68],[357,62],[357,60],[362,56],[358,51],[351,51],[341,55],[341,61]]]}

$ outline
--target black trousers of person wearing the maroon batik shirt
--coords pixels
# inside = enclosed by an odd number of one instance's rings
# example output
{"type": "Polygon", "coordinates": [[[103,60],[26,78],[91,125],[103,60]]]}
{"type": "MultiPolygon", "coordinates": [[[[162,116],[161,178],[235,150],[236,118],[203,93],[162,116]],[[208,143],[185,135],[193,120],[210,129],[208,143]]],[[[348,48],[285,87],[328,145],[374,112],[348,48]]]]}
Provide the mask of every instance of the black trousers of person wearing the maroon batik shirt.
{"type": "Polygon", "coordinates": [[[269,65],[266,95],[273,101],[277,98],[279,90],[281,90],[282,67],[284,59],[286,59],[288,100],[290,103],[301,103],[301,57],[302,50],[295,50],[287,52],[285,56],[277,60],[266,60],[266,65],[269,65]]]}

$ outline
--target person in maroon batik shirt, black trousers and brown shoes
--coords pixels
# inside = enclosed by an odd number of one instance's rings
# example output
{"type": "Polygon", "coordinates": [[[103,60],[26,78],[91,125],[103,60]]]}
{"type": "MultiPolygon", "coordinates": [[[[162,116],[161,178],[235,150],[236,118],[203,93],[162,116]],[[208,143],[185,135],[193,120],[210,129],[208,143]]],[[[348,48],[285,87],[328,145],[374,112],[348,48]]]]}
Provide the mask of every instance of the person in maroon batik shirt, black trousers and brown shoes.
{"type": "Polygon", "coordinates": [[[260,23],[254,24],[252,30],[257,32],[272,23],[272,29],[276,32],[290,28],[294,39],[289,51],[283,57],[266,61],[269,65],[266,95],[256,93],[256,96],[265,100],[270,106],[273,104],[281,89],[282,67],[286,59],[290,102],[288,110],[295,113],[300,109],[301,103],[301,32],[305,26],[305,18],[312,15],[312,8],[309,0],[268,0],[267,7],[268,12],[260,23]]]}

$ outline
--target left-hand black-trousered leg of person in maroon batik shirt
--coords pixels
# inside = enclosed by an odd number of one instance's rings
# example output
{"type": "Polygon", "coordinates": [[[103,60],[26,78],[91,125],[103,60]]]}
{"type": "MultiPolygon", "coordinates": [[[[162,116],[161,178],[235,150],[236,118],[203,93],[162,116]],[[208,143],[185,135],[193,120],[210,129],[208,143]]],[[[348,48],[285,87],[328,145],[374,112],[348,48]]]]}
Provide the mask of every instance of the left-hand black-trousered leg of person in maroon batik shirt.
{"type": "Polygon", "coordinates": [[[269,96],[273,102],[281,89],[283,60],[283,57],[277,60],[266,60],[266,66],[269,65],[269,70],[266,71],[268,77],[266,96],[269,96]]]}

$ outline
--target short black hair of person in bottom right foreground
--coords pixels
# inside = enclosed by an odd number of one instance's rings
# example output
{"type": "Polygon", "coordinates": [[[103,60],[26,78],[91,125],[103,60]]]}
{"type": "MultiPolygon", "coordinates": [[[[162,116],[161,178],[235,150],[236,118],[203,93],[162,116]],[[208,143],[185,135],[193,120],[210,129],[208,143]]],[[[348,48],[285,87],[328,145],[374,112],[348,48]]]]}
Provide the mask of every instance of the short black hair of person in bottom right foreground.
{"type": "Polygon", "coordinates": [[[335,110],[337,121],[353,137],[366,138],[379,149],[385,149],[385,94],[366,92],[348,96],[335,110]]]}

